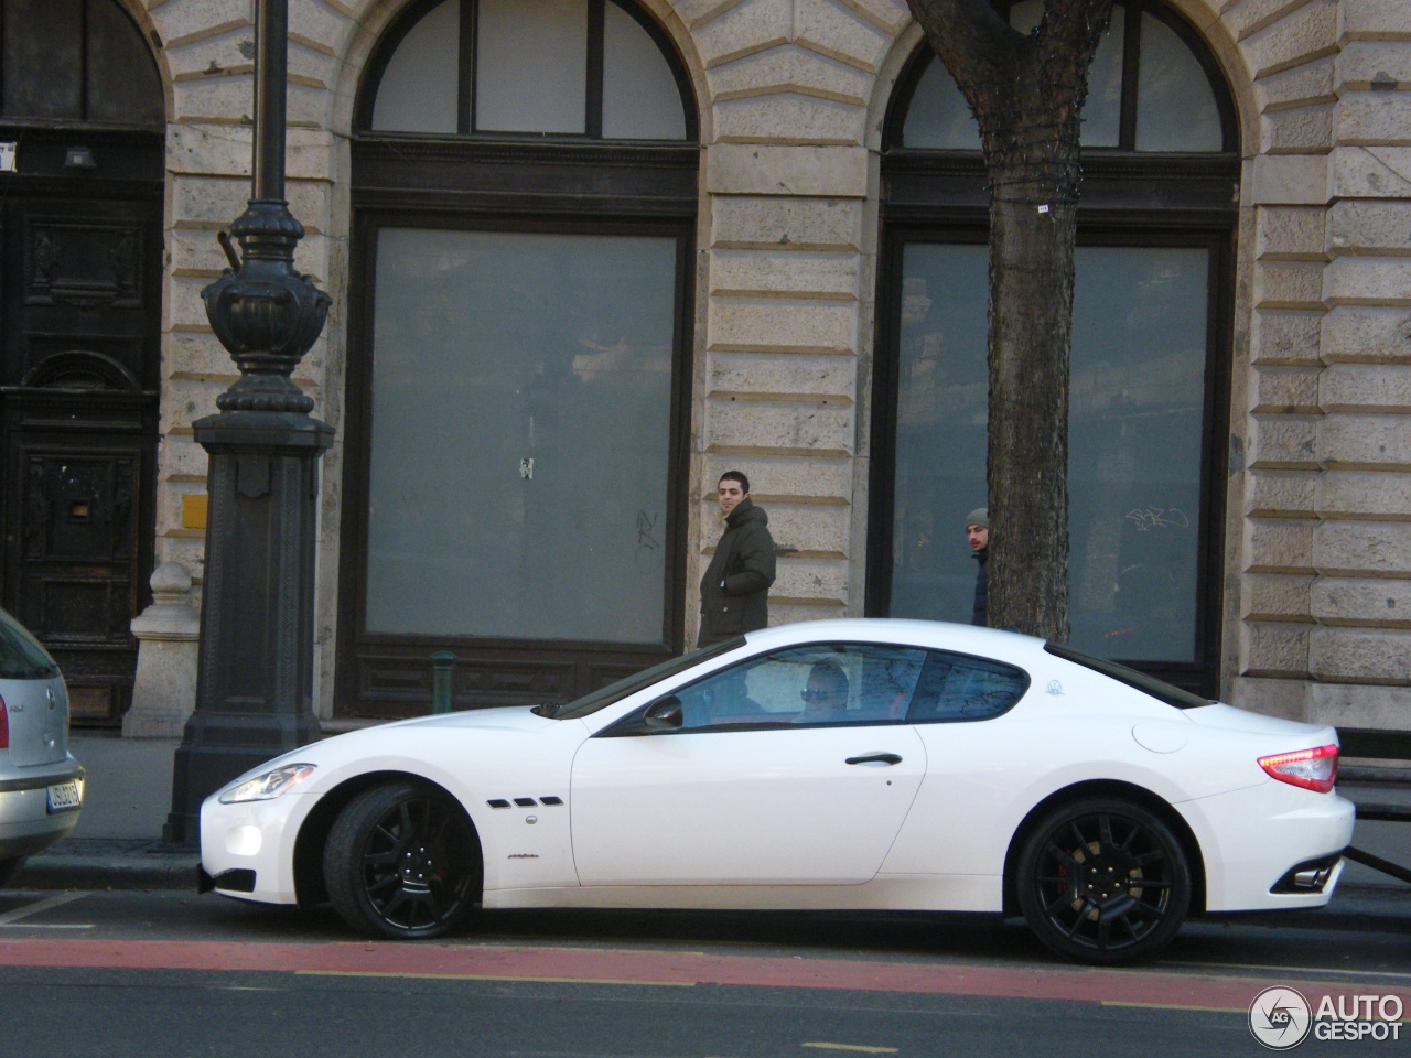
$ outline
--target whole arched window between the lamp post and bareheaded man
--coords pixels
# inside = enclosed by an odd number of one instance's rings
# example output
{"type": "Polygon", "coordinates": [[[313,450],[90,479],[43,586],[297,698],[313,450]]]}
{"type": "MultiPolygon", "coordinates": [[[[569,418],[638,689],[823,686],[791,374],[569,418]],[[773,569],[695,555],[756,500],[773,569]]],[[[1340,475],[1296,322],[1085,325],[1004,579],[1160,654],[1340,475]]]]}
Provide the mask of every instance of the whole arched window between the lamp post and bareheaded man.
{"type": "Polygon", "coordinates": [[[698,147],[617,0],[413,4],[368,63],[340,704],[567,700],[680,647],[698,147]],[[631,429],[624,429],[631,423],[631,429]]]}

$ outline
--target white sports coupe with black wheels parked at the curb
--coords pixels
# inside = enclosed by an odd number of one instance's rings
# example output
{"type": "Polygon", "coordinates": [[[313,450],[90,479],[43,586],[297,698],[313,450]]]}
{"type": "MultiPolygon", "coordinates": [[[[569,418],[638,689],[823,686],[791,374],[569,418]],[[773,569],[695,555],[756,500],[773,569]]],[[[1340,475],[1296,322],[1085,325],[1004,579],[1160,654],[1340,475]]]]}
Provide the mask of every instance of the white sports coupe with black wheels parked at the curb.
{"type": "Polygon", "coordinates": [[[1336,770],[1331,726],[1040,639],[821,621],[286,753],[202,805],[203,884],[392,938],[476,904],[1022,913],[1115,963],[1188,914],[1328,903],[1336,770]]]}

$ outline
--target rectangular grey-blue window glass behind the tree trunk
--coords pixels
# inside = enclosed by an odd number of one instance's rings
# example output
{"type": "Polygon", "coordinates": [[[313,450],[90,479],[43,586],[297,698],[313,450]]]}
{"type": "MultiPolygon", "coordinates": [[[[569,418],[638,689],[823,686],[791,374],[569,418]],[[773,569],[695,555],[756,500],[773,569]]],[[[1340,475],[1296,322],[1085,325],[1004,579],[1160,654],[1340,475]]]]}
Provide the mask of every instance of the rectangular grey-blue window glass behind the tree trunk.
{"type": "MultiPolygon", "coordinates": [[[[985,505],[986,248],[903,250],[890,615],[965,621],[985,505]]],[[[1195,653],[1211,254],[1079,247],[1070,381],[1072,643],[1195,653]]]]}

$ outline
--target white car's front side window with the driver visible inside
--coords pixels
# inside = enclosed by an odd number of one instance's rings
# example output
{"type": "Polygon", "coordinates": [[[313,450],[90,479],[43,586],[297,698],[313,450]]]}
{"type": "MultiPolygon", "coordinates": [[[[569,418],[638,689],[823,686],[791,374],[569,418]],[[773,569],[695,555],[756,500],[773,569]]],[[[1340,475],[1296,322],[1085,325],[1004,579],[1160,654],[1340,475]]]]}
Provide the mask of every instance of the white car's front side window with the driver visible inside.
{"type": "Polygon", "coordinates": [[[876,643],[753,657],[679,690],[682,729],[900,722],[924,663],[924,650],[876,643]]]}

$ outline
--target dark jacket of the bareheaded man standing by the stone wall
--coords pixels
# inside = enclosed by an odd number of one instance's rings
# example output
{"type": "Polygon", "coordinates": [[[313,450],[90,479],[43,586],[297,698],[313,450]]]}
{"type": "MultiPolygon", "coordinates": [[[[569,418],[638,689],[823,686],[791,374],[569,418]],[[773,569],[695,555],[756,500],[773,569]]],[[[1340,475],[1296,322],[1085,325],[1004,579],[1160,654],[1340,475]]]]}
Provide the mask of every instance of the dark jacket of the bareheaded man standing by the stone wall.
{"type": "Polygon", "coordinates": [[[769,515],[746,498],[725,518],[725,532],[701,578],[697,646],[768,625],[773,583],[775,539],[769,535],[769,515]]]}

